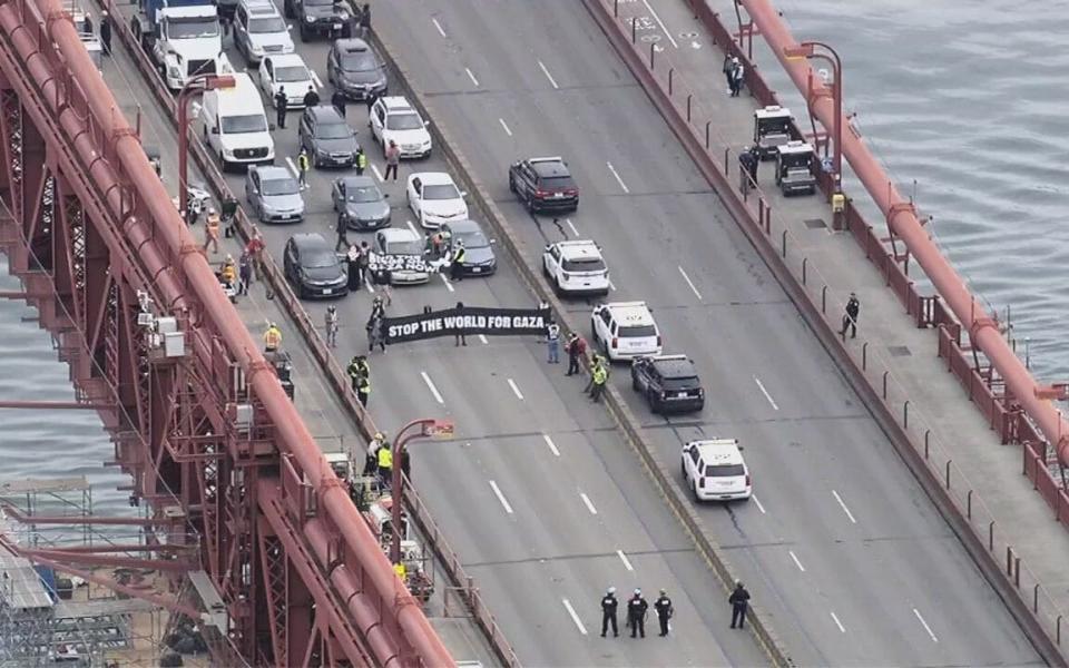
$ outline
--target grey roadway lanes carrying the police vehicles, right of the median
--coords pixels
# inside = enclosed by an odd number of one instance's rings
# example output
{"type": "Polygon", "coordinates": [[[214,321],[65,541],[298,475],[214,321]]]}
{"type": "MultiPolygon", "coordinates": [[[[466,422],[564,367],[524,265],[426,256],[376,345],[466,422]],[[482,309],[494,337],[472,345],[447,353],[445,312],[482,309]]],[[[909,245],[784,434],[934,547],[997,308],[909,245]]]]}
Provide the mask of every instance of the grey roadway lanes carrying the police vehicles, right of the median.
{"type": "MultiPolygon", "coordinates": [[[[648,13],[656,29],[661,19],[648,13]]],[[[433,99],[433,120],[450,129],[475,176],[489,184],[522,235],[528,262],[538,262],[546,239],[573,236],[575,226],[575,234],[602,246],[618,288],[611,298],[647,301],[666,351],[697,363],[708,400],[697,416],[653,415],[631,393],[626,367],[614,382],[668,461],[696,436],[736,436],[746,445],[756,499],[699,512],[796,662],[1038,662],[578,2],[394,0],[376,6],[375,29],[398,49],[393,56],[412,85],[433,99]],[[532,219],[508,193],[508,164],[531,155],[565,156],[580,185],[580,210],[561,229],[532,219]]],[[[587,333],[588,313],[576,303],[569,324],[587,333]]],[[[518,365],[518,357],[502,363],[518,365]]],[[[483,355],[475,369],[481,374],[498,363],[496,354],[483,355]]],[[[465,384],[458,379],[450,397],[468,391],[471,372],[458,373],[465,384]]],[[[418,381],[409,385],[420,391],[418,381]]],[[[528,403],[548,390],[531,386],[527,375],[522,385],[528,403]]],[[[494,422],[508,429],[514,418],[530,419],[517,415],[508,390],[501,392],[494,422]]],[[[581,403],[572,387],[560,396],[569,410],[581,403]]],[[[504,459],[500,449],[493,452],[504,459]]],[[[458,474],[491,456],[472,454],[473,462],[450,460],[458,474]]],[[[590,484],[580,463],[571,472],[578,484],[590,484]]],[[[509,484],[513,497],[522,493],[521,479],[509,484]]],[[[465,510],[471,501],[493,503],[486,490],[473,488],[477,499],[468,493],[449,498],[465,510]]],[[[523,536],[545,531],[537,520],[516,519],[523,536]]],[[[558,523],[546,536],[576,540],[572,530],[558,523]]]]}

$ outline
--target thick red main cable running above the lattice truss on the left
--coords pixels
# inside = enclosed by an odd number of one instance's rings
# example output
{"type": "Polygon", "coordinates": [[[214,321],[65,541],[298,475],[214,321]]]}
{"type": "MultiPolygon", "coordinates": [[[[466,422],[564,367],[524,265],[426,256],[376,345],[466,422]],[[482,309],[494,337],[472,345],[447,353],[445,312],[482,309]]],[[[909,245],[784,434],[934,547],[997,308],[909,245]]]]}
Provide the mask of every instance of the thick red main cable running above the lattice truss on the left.
{"type": "MultiPolygon", "coordinates": [[[[104,194],[110,210],[102,212],[106,216],[95,217],[119,222],[125,243],[137,252],[136,259],[128,262],[144,267],[150,278],[147,284],[151,284],[163,297],[158,301],[160,306],[171,312],[190,313],[194,326],[187,330],[187,334],[195,354],[205,357],[204,367],[212,367],[213,345],[207,333],[195,326],[202,317],[216,325],[227,352],[246,372],[248,384],[271,416],[279,450],[293,455],[317,490],[320,507],[337,528],[339,540],[361,564],[363,577],[349,571],[341,577],[347,579],[354,591],[373,591],[383,601],[388,610],[384,615],[395,616],[404,640],[412,645],[423,665],[452,666],[445,646],[422,611],[416,606],[399,603],[406,598],[403,586],[276,377],[263,373],[267,365],[257,342],[219,289],[205,257],[196,250],[196,240],[149,166],[140,141],[119,111],[61,4],[57,0],[9,1],[0,6],[0,29],[7,32],[22,59],[21,67],[30,73],[36,87],[29,90],[22,81],[12,81],[23,98],[33,98],[37,104],[35,108],[29,100],[23,102],[31,115],[38,115],[36,125],[48,127],[50,119],[40,116],[40,106],[47,105],[52,118],[66,132],[66,137],[60,138],[63,148],[72,150],[89,166],[88,177],[96,193],[104,194]],[[37,36],[42,30],[59,49],[62,62],[38,48],[37,36]],[[85,94],[86,109],[66,104],[68,95],[65,89],[68,87],[76,87],[85,94]],[[109,143],[107,155],[98,150],[96,136],[102,136],[109,143]],[[133,185],[134,195],[147,212],[148,219],[129,215],[133,210],[127,207],[129,197],[124,198],[122,184],[116,171],[133,185]]],[[[14,75],[19,68],[9,63],[8,69],[14,75]]],[[[122,247],[122,244],[115,243],[114,247],[122,247]]]]}

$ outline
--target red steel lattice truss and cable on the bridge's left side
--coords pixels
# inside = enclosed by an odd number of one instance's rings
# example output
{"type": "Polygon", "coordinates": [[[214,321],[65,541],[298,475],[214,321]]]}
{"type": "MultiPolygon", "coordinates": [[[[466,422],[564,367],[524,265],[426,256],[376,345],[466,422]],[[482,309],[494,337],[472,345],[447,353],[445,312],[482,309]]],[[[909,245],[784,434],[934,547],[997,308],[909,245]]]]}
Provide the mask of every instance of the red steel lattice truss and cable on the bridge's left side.
{"type": "Polygon", "coordinates": [[[0,244],[12,271],[59,342],[78,400],[97,406],[116,460],[153,505],[155,531],[199,547],[188,568],[208,573],[244,658],[453,665],[219,289],[57,0],[0,4],[0,135],[9,216],[0,244]],[[143,294],[156,316],[176,318],[184,354],[150,343],[137,317],[143,294]]]}

